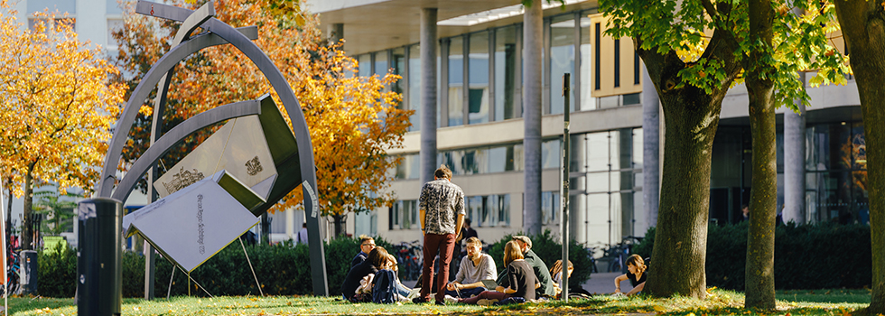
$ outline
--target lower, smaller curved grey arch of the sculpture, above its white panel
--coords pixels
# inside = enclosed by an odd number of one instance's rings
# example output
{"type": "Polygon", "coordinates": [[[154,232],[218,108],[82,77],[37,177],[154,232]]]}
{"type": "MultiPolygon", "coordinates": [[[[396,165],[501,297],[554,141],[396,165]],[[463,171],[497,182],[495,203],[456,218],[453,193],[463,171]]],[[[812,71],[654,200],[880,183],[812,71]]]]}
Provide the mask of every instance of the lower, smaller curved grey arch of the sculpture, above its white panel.
{"type": "MultiPolygon", "coordinates": [[[[270,98],[270,96],[265,95],[262,98],[270,98]]],[[[126,172],[123,180],[117,184],[116,191],[114,191],[111,198],[126,200],[129,194],[132,193],[133,188],[135,188],[135,183],[142,178],[142,174],[160,160],[163,154],[169,152],[172,149],[172,145],[181,142],[184,137],[193,134],[203,127],[224,122],[231,118],[261,114],[260,100],[262,98],[215,107],[188,118],[182,124],[175,125],[171,131],[160,137],[153,145],[147,148],[147,151],[138,157],[138,160],[129,168],[129,172],[126,172]]],[[[148,183],[148,185],[151,185],[151,183],[148,183]]]]}

